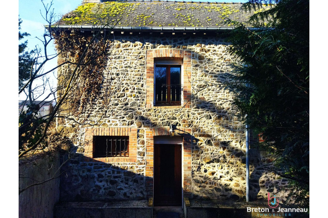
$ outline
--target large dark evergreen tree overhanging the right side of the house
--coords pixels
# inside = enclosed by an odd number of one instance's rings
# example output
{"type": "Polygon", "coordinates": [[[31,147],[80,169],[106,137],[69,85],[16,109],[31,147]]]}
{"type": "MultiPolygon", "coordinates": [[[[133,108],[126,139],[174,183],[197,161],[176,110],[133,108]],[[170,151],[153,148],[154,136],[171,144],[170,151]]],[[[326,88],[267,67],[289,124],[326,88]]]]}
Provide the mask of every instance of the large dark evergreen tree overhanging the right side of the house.
{"type": "Polygon", "coordinates": [[[309,0],[250,0],[242,10],[257,12],[247,24],[234,22],[230,51],[241,82],[234,103],[275,155],[275,173],[308,205],[309,0]]]}

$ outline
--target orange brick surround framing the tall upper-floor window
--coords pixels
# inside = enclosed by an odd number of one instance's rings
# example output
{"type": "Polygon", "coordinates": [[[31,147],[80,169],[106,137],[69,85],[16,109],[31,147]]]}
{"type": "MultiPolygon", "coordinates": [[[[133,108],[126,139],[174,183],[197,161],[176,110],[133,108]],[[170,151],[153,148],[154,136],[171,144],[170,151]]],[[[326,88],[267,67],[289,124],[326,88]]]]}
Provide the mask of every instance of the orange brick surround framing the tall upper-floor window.
{"type": "MultiPolygon", "coordinates": [[[[154,107],[154,60],[156,59],[182,59],[181,85],[183,94],[181,105],[190,108],[191,98],[191,51],[172,48],[159,48],[147,50],[146,53],[146,108],[154,107]]],[[[161,106],[159,106],[161,107],[161,106]]],[[[168,108],[181,106],[167,106],[168,108]]],[[[163,108],[163,107],[161,107],[163,108]]]]}

